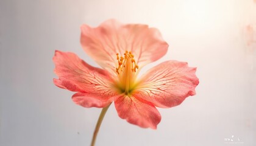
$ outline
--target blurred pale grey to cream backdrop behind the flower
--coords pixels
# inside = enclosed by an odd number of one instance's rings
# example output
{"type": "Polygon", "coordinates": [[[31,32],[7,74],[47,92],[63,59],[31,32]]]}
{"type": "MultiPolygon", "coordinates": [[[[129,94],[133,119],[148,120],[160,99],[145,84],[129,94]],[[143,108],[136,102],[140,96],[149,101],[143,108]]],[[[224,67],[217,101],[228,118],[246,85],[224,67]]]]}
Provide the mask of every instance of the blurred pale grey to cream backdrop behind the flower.
{"type": "MultiPolygon", "coordinates": [[[[74,52],[80,26],[115,18],[157,27],[162,59],[197,67],[196,96],[159,109],[157,130],[108,109],[96,145],[256,145],[255,0],[0,0],[0,145],[90,145],[101,109],[52,83],[54,50],[74,52]]],[[[99,67],[99,66],[98,66],[99,67]]]]}

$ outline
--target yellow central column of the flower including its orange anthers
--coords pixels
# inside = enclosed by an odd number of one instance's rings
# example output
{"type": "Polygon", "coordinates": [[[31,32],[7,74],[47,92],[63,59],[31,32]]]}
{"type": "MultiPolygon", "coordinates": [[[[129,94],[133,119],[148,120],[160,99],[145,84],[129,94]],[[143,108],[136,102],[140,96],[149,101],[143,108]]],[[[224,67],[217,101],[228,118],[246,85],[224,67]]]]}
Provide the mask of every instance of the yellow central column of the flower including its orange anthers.
{"type": "Polygon", "coordinates": [[[136,71],[138,65],[135,62],[134,55],[132,52],[124,53],[124,56],[119,57],[116,54],[116,60],[118,60],[118,68],[116,73],[118,74],[118,89],[120,92],[129,94],[135,87],[136,71]]]}

